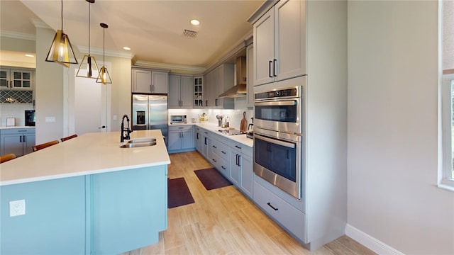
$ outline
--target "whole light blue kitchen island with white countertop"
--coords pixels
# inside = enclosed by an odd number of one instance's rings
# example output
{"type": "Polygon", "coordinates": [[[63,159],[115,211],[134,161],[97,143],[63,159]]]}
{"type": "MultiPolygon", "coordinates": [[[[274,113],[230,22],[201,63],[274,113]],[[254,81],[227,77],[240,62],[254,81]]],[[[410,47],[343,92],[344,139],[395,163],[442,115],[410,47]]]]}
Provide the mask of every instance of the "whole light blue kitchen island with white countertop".
{"type": "MultiPolygon", "coordinates": [[[[120,132],[81,135],[0,165],[0,254],[118,254],[167,228],[167,164],[156,145],[121,148],[120,132]],[[25,215],[10,217],[11,201],[25,215]]],[[[128,141],[126,141],[128,142],[128,141]]]]}

